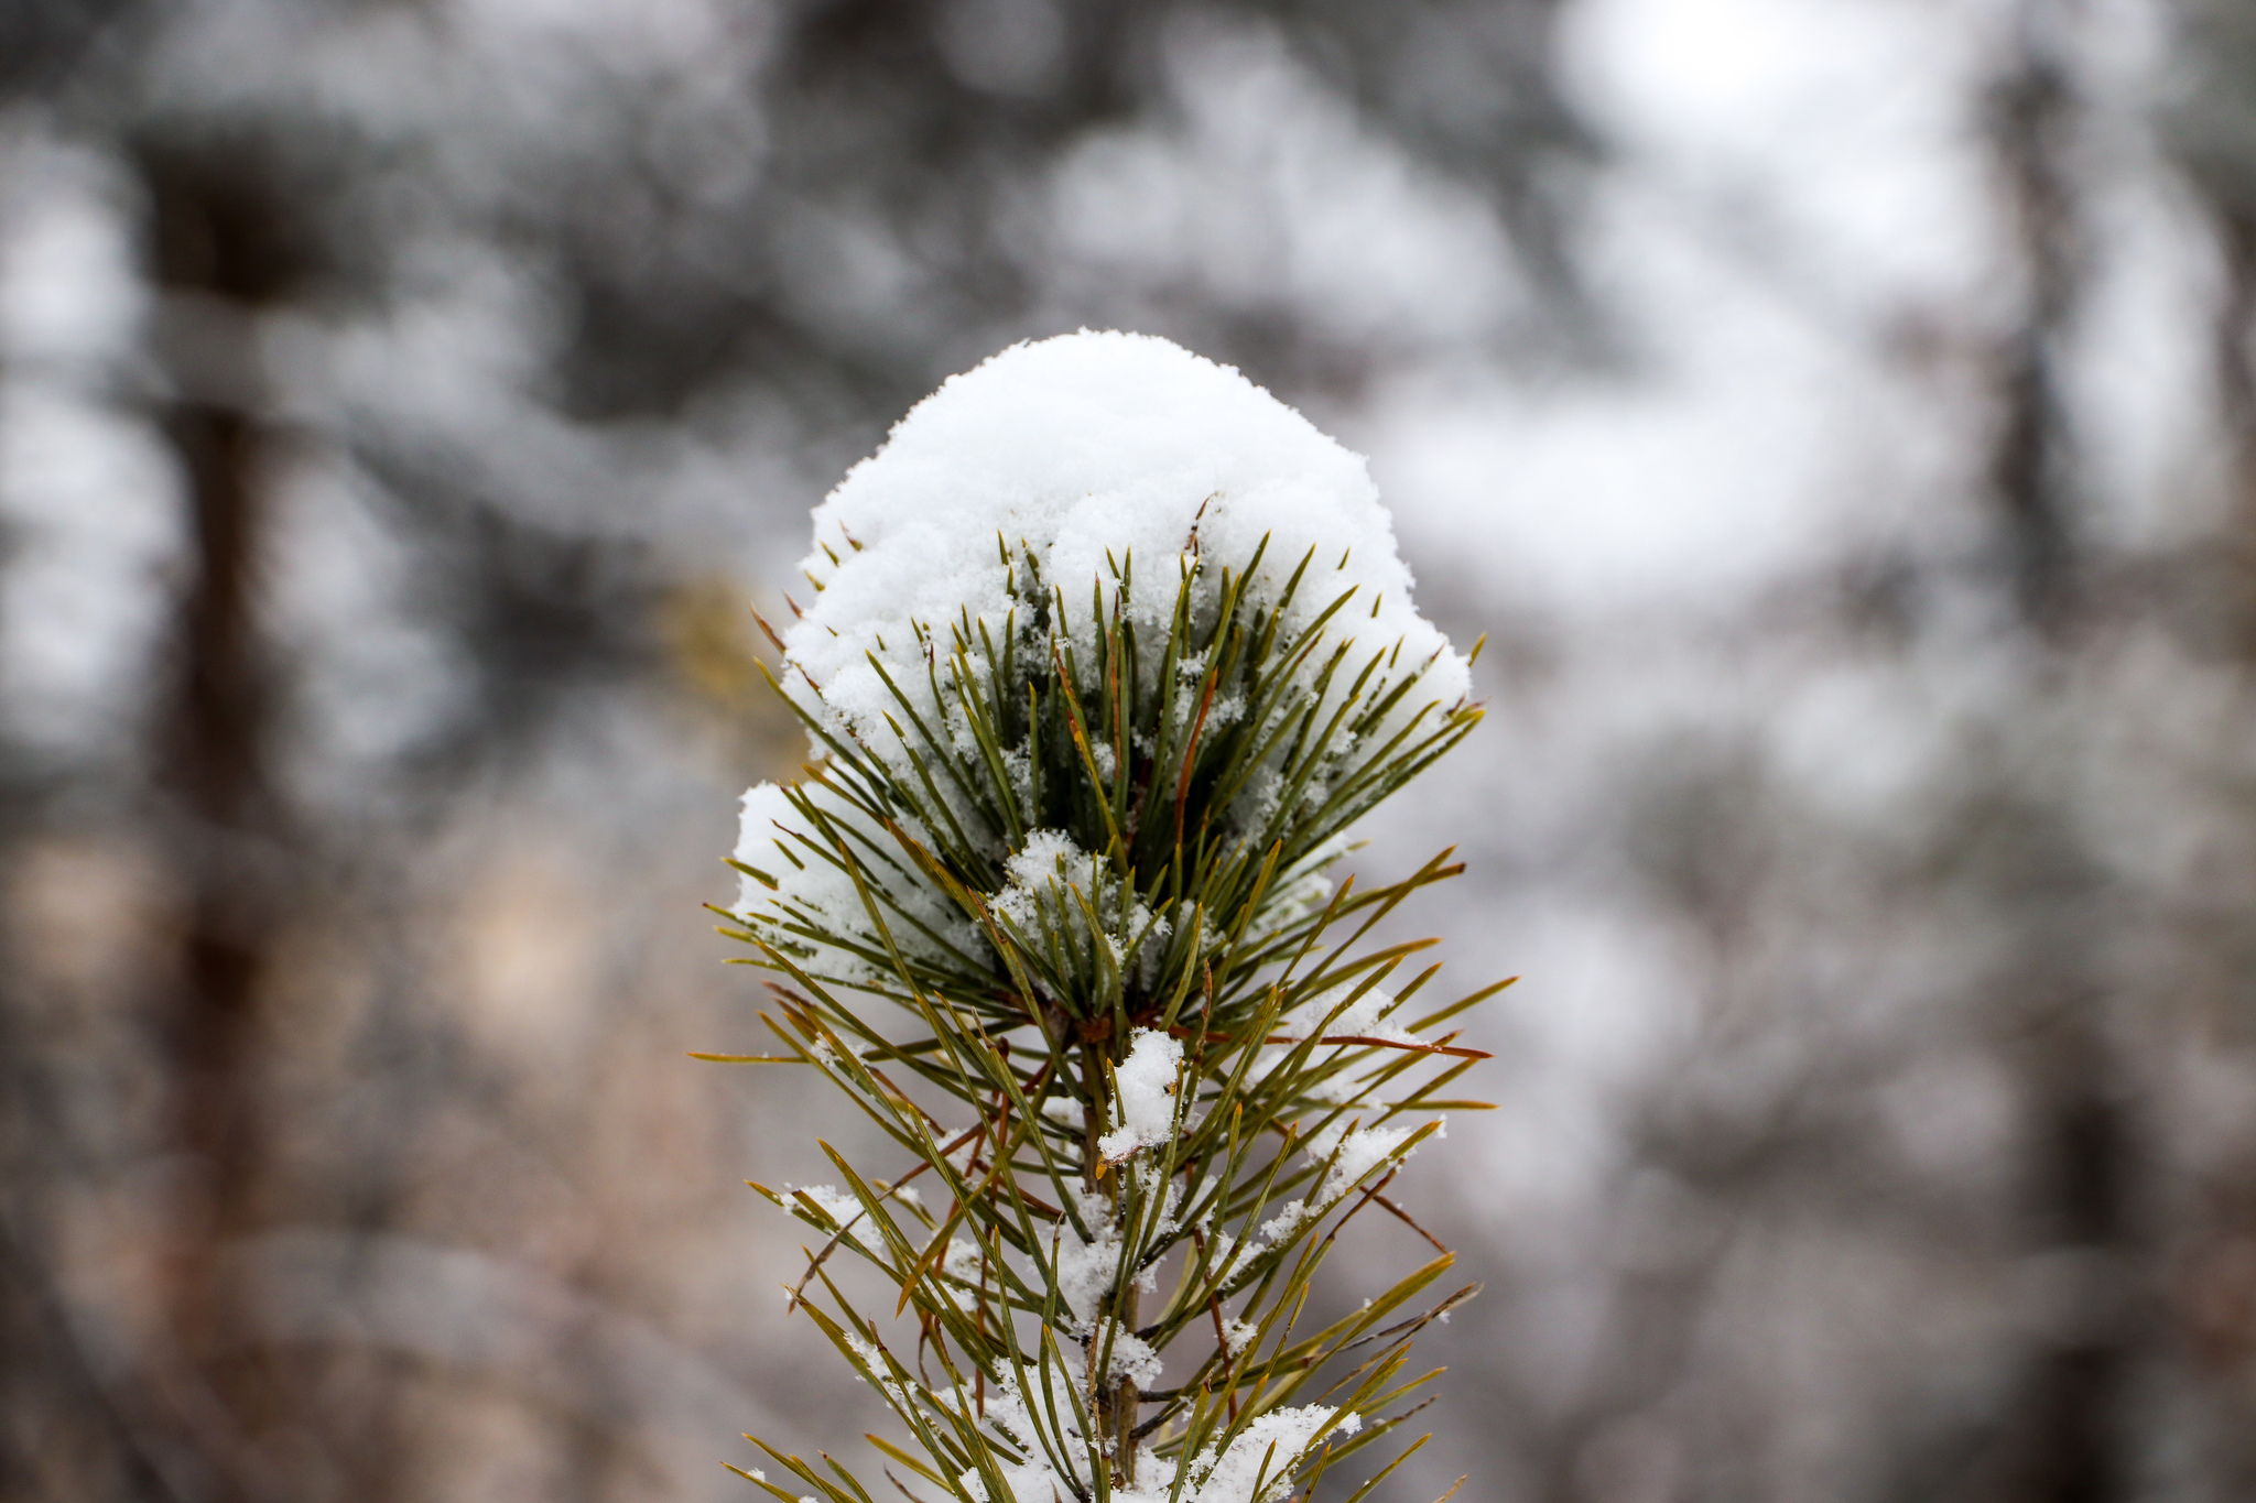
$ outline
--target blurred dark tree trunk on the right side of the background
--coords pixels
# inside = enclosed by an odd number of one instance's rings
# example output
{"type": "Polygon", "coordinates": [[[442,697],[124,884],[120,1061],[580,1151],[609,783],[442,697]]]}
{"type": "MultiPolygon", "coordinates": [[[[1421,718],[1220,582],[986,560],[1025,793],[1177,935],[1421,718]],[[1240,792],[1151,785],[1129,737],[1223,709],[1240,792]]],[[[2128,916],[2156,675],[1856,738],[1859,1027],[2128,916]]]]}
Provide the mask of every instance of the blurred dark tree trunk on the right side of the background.
{"type": "MultiPolygon", "coordinates": [[[[2015,16],[2017,56],[1992,113],[2024,286],[2019,322],[1999,352],[1990,487],[2015,608],[2028,633],[2033,710],[2060,696],[2066,658],[2089,626],[2073,536],[2076,442],[2060,379],[2082,291],[2066,29],[2060,0],[2024,0],[2015,16]]],[[[2028,723],[2051,721],[2028,717],[2028,723]]],[[[2037,820],[2055,829],[2035,836],[2037,850],[2008,865],[2001,899],[2019,928],[2019,976],[2001,1000],[2010,1032],[2019,1034],[2030,1111],[2021,1217],[2028,1246],[2017,1284],[2033,1350],[2003,1415],[1994,1496],[2114,1503],[2132,1489],[2125,1449],[2134,1426],[2125,1402],[2136,1352],[2123,1298],[2139,1266],[2130,1206],[2136,1142],[2112,998],[2091,942],[2094,879],[2080,872],[2087,863],[2069,811],[2046,809],[2053,800],[2044,786],[2030,795],[2037,820]]]]}

